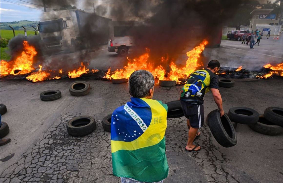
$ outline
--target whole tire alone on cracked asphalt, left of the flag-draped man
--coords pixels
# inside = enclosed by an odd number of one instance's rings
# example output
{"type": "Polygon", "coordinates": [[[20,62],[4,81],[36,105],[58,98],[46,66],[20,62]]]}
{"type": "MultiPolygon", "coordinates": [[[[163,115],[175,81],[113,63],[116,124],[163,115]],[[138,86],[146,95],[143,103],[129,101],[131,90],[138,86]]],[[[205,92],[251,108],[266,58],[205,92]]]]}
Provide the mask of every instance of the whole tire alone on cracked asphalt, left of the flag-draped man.
{"type": "Polygon", "coordinates": [[[81,137],[90,134],[95,130],[95,128],[95,119],[91,116],[74,117],[67,123],[68,134],[75,137],[81,137]]]}

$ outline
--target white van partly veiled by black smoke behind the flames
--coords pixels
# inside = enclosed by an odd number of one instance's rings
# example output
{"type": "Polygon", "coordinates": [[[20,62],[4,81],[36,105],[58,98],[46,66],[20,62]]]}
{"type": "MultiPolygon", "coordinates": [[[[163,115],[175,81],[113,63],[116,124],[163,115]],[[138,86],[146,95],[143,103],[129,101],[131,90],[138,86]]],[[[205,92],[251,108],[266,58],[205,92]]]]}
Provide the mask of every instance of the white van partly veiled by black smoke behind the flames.
{"type": "Polygon", "coordinates": [[[108,42],[108,51],[116,52],[125,56],[134,48],[133,33],[143,22],[138,21],[109,21],[110,40],[108,42]]]}

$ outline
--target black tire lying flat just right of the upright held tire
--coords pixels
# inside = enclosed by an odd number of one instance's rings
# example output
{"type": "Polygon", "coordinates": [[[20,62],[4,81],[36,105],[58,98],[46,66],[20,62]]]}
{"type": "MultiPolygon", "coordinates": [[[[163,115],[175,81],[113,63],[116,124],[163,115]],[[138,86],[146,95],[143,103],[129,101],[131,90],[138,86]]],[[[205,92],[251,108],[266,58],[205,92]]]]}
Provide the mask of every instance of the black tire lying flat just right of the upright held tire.
{"type": "Polygon", "coordinates": [[[228,112],[228,116],[231,121],[248,125],[258,122],[260,114],[248,107],[232,107],[228,112]]]}

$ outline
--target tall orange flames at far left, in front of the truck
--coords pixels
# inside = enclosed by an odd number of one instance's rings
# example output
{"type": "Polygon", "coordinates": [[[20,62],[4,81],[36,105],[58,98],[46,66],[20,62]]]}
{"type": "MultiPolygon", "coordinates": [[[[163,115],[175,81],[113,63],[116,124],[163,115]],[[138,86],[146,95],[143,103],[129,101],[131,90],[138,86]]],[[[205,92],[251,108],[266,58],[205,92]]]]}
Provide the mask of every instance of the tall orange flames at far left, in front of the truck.
{"type": "Polygon", "coordinates": [[[10,62],[1,60],[1,76],[27,74],[35,69],[33,67],[33,57],[37,54],[35,47],[29,45],[27,41],[23,41],[23,49],[24,51],[16,60],[10,62]]]}

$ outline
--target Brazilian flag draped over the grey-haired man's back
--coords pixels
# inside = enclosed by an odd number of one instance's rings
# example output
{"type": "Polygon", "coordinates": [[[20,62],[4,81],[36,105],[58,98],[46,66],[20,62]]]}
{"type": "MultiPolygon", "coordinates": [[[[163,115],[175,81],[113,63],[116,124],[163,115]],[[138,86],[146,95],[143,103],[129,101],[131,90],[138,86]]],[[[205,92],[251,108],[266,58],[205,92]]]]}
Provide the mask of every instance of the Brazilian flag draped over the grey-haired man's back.
{"type": "Polygon", "coordinates": [[[165,155],[167,105],[131,98],[111,119],[113,174],[141,182],[157,182],[168,175],[165,155]]]}

